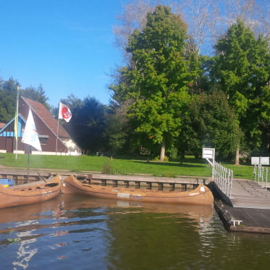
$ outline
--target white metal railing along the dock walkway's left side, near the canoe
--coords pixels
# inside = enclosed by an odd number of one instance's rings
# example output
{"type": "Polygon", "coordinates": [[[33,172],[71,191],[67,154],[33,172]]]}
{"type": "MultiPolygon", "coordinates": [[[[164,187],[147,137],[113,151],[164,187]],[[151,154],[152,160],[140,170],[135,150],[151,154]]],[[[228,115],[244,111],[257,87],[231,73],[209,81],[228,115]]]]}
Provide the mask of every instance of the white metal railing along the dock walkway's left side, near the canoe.
{"type": "Polygon", "coordinates": [[[231,198],[231,189],[233,184],[233,171],[223,167],[220,163],[214,161],[212,178],[219,189],[231,198]]]}

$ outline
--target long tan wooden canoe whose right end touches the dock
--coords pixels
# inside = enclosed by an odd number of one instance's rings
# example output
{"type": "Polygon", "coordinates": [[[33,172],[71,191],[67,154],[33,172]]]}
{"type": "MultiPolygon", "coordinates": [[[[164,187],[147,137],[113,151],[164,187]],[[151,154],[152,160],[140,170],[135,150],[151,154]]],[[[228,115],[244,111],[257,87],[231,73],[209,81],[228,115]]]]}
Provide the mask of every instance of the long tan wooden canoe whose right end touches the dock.
{"type": "Polygon", "coordinates": [[[74,176],[67,176],[62,183],[63,194],[85,194],[98,198],[137,200],[155,203],[183,203],[191,205],[213,205],[214,197],[205,185],[198,185],[191,191],[161,191],[154,189],[132,189],[125,187],[104,187],[83,183],[74,176]]]}

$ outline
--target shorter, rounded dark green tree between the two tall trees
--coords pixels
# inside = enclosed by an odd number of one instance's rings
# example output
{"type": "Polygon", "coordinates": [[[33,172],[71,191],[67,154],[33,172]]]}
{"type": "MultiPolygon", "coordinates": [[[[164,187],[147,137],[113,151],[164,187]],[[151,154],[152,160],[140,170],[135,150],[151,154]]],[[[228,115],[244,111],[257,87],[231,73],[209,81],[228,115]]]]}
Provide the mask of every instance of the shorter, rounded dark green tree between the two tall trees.
{"type": "Polygon", "coordinates": [[[189,149],[196,158],[203,147],[214,147],[220,159],[231,159],[242,138],[238,117],[223,92],[194,95],[179,136],[180,152],[189,149]]]}

